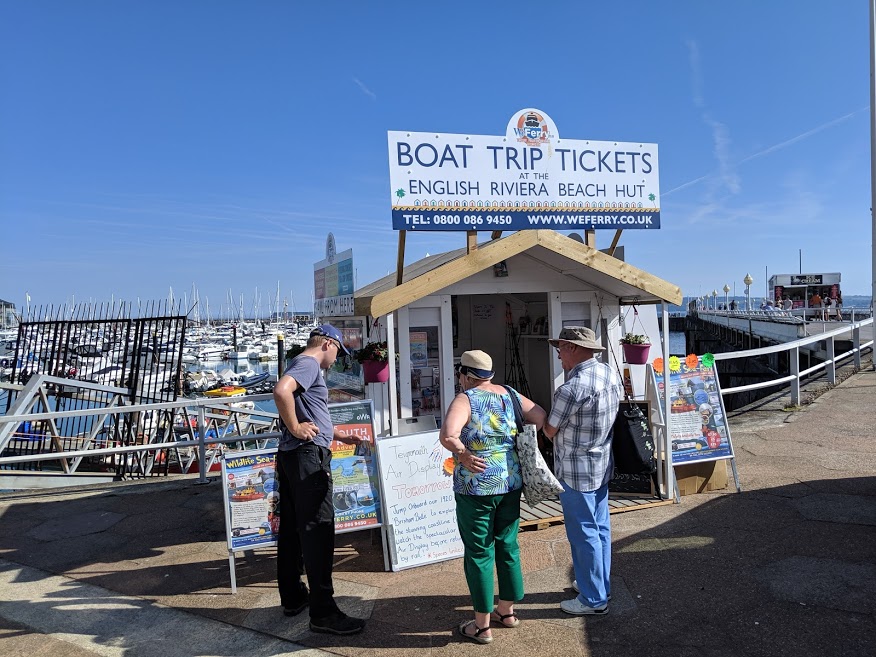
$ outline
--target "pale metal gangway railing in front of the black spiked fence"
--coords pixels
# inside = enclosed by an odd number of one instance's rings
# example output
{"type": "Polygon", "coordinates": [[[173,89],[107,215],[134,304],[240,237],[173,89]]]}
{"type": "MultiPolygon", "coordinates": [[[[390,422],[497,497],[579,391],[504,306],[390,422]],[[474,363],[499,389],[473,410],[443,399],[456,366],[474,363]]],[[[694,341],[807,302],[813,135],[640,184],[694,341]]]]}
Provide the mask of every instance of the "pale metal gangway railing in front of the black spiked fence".
{"type": "Polygon", "coordinates": [[[33,474],[36,466],[36,474],[96,469],[144,477],[166,474],[171,462],[186,474],[197,462],[199,481],[207,481],[223,445],[261,448],[281,435],[279,415],[254,408],[256,402],[271,399],[270,394],[131,404],[127,389],[46,375],[25,386],[0,384],[0,388],[15,396],[12,412],[0,416],[0,476],[33,474]],[[98,400],[100,406],[49,410],[50,395],[58,386],[66,394],[73,388],[73,394],[98,400]],[[105,402],[107,393],[114,396],[105,402]],[[64,435],[64,428],[71,426],[86,429],[75,436],[64,435]],[[30,443],[38,448],[22,449],[30,443]],[[42,471],[47,462],[60,467],[42,471]]]}

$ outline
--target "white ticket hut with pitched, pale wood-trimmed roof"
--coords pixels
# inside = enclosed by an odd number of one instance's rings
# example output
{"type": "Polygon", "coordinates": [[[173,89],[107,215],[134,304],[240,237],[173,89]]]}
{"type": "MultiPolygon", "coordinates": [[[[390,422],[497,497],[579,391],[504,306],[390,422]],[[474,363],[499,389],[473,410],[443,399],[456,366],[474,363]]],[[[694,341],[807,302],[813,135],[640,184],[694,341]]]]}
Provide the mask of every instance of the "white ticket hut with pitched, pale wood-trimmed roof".
{"type": "Polygon", "coordinates": [[[397,354],[390,380],[368,390],[378,431],[398,435],[412,418],[440,427],[456,393],[454,363],[469,349],[490,354],[496,383],[550,408],[565,373],[548,338],[590,327],[604,362],[628,373],[619,341],[632,310],[653,319],[653,359],[662,355],[655,305],[681,298],[677,286],[552,230],[428,256],[405,267],[400,283],[391,274],[355,292],[366,342],[387,340],[397,354]]]}

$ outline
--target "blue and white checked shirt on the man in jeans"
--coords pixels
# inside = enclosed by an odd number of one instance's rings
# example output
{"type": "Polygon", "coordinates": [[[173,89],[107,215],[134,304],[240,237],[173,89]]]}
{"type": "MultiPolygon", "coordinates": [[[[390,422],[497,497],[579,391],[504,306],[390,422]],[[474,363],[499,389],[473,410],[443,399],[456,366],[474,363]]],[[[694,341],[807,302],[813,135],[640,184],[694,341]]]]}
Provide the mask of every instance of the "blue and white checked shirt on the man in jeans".
{"type": "Polygon", "coordinates": [[[579,363],[557,388],[548,424],[554,436],[554,474],[579,491],[611,480],[611,428],[622,394],[620,377],[595,358],[579,363]]]}

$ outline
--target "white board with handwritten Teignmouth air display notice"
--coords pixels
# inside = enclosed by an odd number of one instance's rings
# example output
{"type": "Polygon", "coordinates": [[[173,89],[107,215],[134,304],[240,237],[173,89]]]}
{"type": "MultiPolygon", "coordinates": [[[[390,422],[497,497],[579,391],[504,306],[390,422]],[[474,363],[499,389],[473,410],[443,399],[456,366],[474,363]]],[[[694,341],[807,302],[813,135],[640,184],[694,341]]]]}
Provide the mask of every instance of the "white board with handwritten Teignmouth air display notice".
{"type": "Polygon", "coordinates": [[[450,457],[437,431],[377,442],[384,527],[394,571],[462,556],[450,457]]]}

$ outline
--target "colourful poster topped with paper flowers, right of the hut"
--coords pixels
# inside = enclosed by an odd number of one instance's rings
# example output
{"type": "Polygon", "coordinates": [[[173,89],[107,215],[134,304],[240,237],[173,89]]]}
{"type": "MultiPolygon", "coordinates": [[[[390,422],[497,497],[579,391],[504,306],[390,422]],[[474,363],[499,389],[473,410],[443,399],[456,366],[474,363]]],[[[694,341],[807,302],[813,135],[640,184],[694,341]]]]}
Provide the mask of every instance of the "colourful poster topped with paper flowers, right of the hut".
{"type": "Polygon", "coordinates": [[[653,366],[661,394],[669,370],[673,465],[733,458],[714,357],[672,356],[665,365],[655,359],[653,366]]]}

